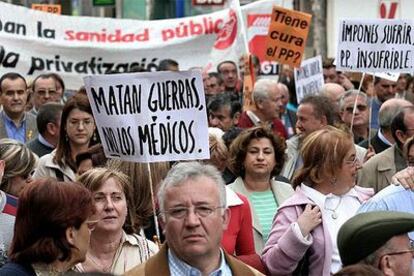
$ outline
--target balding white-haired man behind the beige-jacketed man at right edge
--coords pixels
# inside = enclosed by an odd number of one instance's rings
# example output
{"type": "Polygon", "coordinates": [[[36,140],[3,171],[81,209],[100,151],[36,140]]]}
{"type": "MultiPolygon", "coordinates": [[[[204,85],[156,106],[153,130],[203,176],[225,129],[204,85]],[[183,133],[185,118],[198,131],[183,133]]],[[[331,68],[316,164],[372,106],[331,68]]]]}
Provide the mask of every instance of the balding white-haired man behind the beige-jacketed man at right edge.
{"type": "Polygon", "coordinates": [[[383,152],[391,147],[395,143],[391,133],[392,119],[399,109],[412,105],[411,102],[403,99],[393,98],[385,101],[379,110],[379,129],[377,133],[371,138],[369,143],[368,140],[364,140],[359,145],[367,149],[368,144],[371,144],[375,153],[383,152]]]}

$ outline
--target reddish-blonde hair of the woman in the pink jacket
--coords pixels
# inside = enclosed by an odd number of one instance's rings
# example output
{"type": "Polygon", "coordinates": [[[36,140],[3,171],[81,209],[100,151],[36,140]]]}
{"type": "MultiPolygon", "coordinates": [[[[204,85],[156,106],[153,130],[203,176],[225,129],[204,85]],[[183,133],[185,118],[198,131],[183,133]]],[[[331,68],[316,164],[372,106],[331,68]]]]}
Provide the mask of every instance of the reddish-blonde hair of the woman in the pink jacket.
{"type": "Polygon", "coordinates": [[[303,182],[313,186],[322,183],[326,177],[334,177],[353,145],[349,132],[333,126],[309,134],[300,148],[303,166],[293,178],[293,188],[303,182]]]}

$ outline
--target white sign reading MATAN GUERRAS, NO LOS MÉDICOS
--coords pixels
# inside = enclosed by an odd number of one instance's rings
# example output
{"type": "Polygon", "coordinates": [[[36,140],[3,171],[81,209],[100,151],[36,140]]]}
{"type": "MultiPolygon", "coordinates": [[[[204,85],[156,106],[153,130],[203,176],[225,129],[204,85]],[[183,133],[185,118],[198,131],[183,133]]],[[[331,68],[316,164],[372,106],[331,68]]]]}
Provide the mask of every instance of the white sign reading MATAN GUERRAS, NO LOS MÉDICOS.
{"type": "Polygon", "coordinates": [[[209,158],[201,72],[88,76],[84,82],[107,157],[209,158]]]}

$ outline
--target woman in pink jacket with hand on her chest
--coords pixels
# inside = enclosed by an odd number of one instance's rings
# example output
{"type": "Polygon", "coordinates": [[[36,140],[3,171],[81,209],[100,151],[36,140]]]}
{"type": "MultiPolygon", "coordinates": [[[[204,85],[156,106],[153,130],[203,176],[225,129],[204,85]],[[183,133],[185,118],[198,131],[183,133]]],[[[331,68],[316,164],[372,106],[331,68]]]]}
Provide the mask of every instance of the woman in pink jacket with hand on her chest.
{"type": "Polygon", "coordinates": [[[330,275],[342,265],[339,228],[373,190],[355,186],[360,164],[351,134],[330,126],[315,131],[301,154],[295,194],[279,207],[262,260],[273,275],[330,275]]]}

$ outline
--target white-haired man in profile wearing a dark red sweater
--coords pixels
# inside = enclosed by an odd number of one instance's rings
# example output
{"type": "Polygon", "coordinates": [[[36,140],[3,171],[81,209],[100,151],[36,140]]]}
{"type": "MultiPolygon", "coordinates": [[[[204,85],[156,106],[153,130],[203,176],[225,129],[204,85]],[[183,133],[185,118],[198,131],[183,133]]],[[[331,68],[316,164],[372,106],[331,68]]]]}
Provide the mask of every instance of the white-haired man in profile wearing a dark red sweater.
{"type": "Polygon", "coordinates": [[[240,115],[238,126],[250,128],[268,124],[273,132],[287,138],[285,127],[279,119],[279,112],[283,108],[282,93],[278,83],[271,79],[259,79],[254,84],[252,98],[254,110],[245,111],[240,115]]]}

